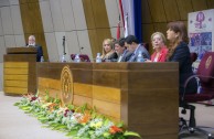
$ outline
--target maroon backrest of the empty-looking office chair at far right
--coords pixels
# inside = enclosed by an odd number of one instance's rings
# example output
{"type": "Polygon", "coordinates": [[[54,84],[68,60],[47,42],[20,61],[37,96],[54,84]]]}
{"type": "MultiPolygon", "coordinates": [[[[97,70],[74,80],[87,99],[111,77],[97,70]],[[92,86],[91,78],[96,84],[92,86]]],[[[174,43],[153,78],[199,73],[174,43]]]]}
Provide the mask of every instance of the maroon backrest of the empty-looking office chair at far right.
{"type": "Polygon", "coordinates": [[[197,73],[202,92],[214,94],[214,52],[206,52],[200,62],[197,73]]]}

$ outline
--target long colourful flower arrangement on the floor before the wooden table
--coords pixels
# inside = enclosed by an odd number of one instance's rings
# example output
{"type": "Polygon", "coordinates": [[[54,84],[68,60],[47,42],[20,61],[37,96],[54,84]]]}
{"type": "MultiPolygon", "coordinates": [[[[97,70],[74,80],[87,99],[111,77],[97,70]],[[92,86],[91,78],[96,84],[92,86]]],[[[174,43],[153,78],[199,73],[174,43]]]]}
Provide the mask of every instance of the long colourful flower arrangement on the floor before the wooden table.
{"type": "Polygon", "coordinates": [[[44,99],[33,94],[28,94],[14,104],[26,114],[31,114],[45,124],[45,127],[66,132],[72,139],[127,139],[128,137],[141,138],[137,132],[127,131],[122,122],[115,124],[110,119],[98,115],[87,105],[62,107],[61,100],[49,96],[44,99]]]}

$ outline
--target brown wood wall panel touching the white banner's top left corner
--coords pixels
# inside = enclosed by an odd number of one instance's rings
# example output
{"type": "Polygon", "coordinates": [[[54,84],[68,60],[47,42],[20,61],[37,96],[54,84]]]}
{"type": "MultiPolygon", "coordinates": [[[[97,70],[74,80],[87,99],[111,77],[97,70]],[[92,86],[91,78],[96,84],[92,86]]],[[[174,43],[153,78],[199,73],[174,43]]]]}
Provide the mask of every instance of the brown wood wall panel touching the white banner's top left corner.
{"type": "Polygon", "coordinates": [[[193,11],[192,0],[176,0],[181,20],[188,20],[188,13],[193,11]]]}

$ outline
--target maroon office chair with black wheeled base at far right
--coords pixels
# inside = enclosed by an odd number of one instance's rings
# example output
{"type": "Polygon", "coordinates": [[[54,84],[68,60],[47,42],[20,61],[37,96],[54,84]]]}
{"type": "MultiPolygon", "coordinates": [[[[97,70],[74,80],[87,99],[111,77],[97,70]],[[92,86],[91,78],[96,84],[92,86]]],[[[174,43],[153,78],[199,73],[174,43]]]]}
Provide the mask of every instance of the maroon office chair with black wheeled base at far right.
{"type": "MultiPolygon", "coordinates": [[[[199,90],[199,89],[197,89],[199,90]]],[[[190,133],[195,131],[205,135],[208,139],[214,139],[211,132],[204,130],[211,127],[199,127],[195,120],[195,106],[190,103],[197,103],[204,100],[211,100],[214,98],[214,52],[206,52],[200,62],[197,72],[195,75],[189,77],[184,84],[184,93],[180,96],[180,107],[182,107],[181,113],[186,114],[186,109],[190,110],[189,122],[184,118],[180,118],[180,131],[179,136],[183,133],[184,130],[189,130],[190,133]],[[201,86],[201,92],[196,94],[185,94],[185,87],[191,78],[197,77],[199,84],[201,86]]],[[[214,128],[211,128],[214,129],[214,128]]]]}

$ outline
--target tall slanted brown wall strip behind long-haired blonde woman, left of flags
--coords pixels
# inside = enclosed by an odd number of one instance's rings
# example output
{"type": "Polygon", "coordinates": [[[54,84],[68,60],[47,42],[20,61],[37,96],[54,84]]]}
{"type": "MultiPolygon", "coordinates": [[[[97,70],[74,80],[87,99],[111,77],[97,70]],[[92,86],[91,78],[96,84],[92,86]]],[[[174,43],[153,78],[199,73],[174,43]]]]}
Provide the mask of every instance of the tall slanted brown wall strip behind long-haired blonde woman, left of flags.
{"type": "Polygon", "coordinates": [[[93,57],[101,52],[104,39],[111,38],[110,28],[104,0],[82,0],[93,57]]]}

